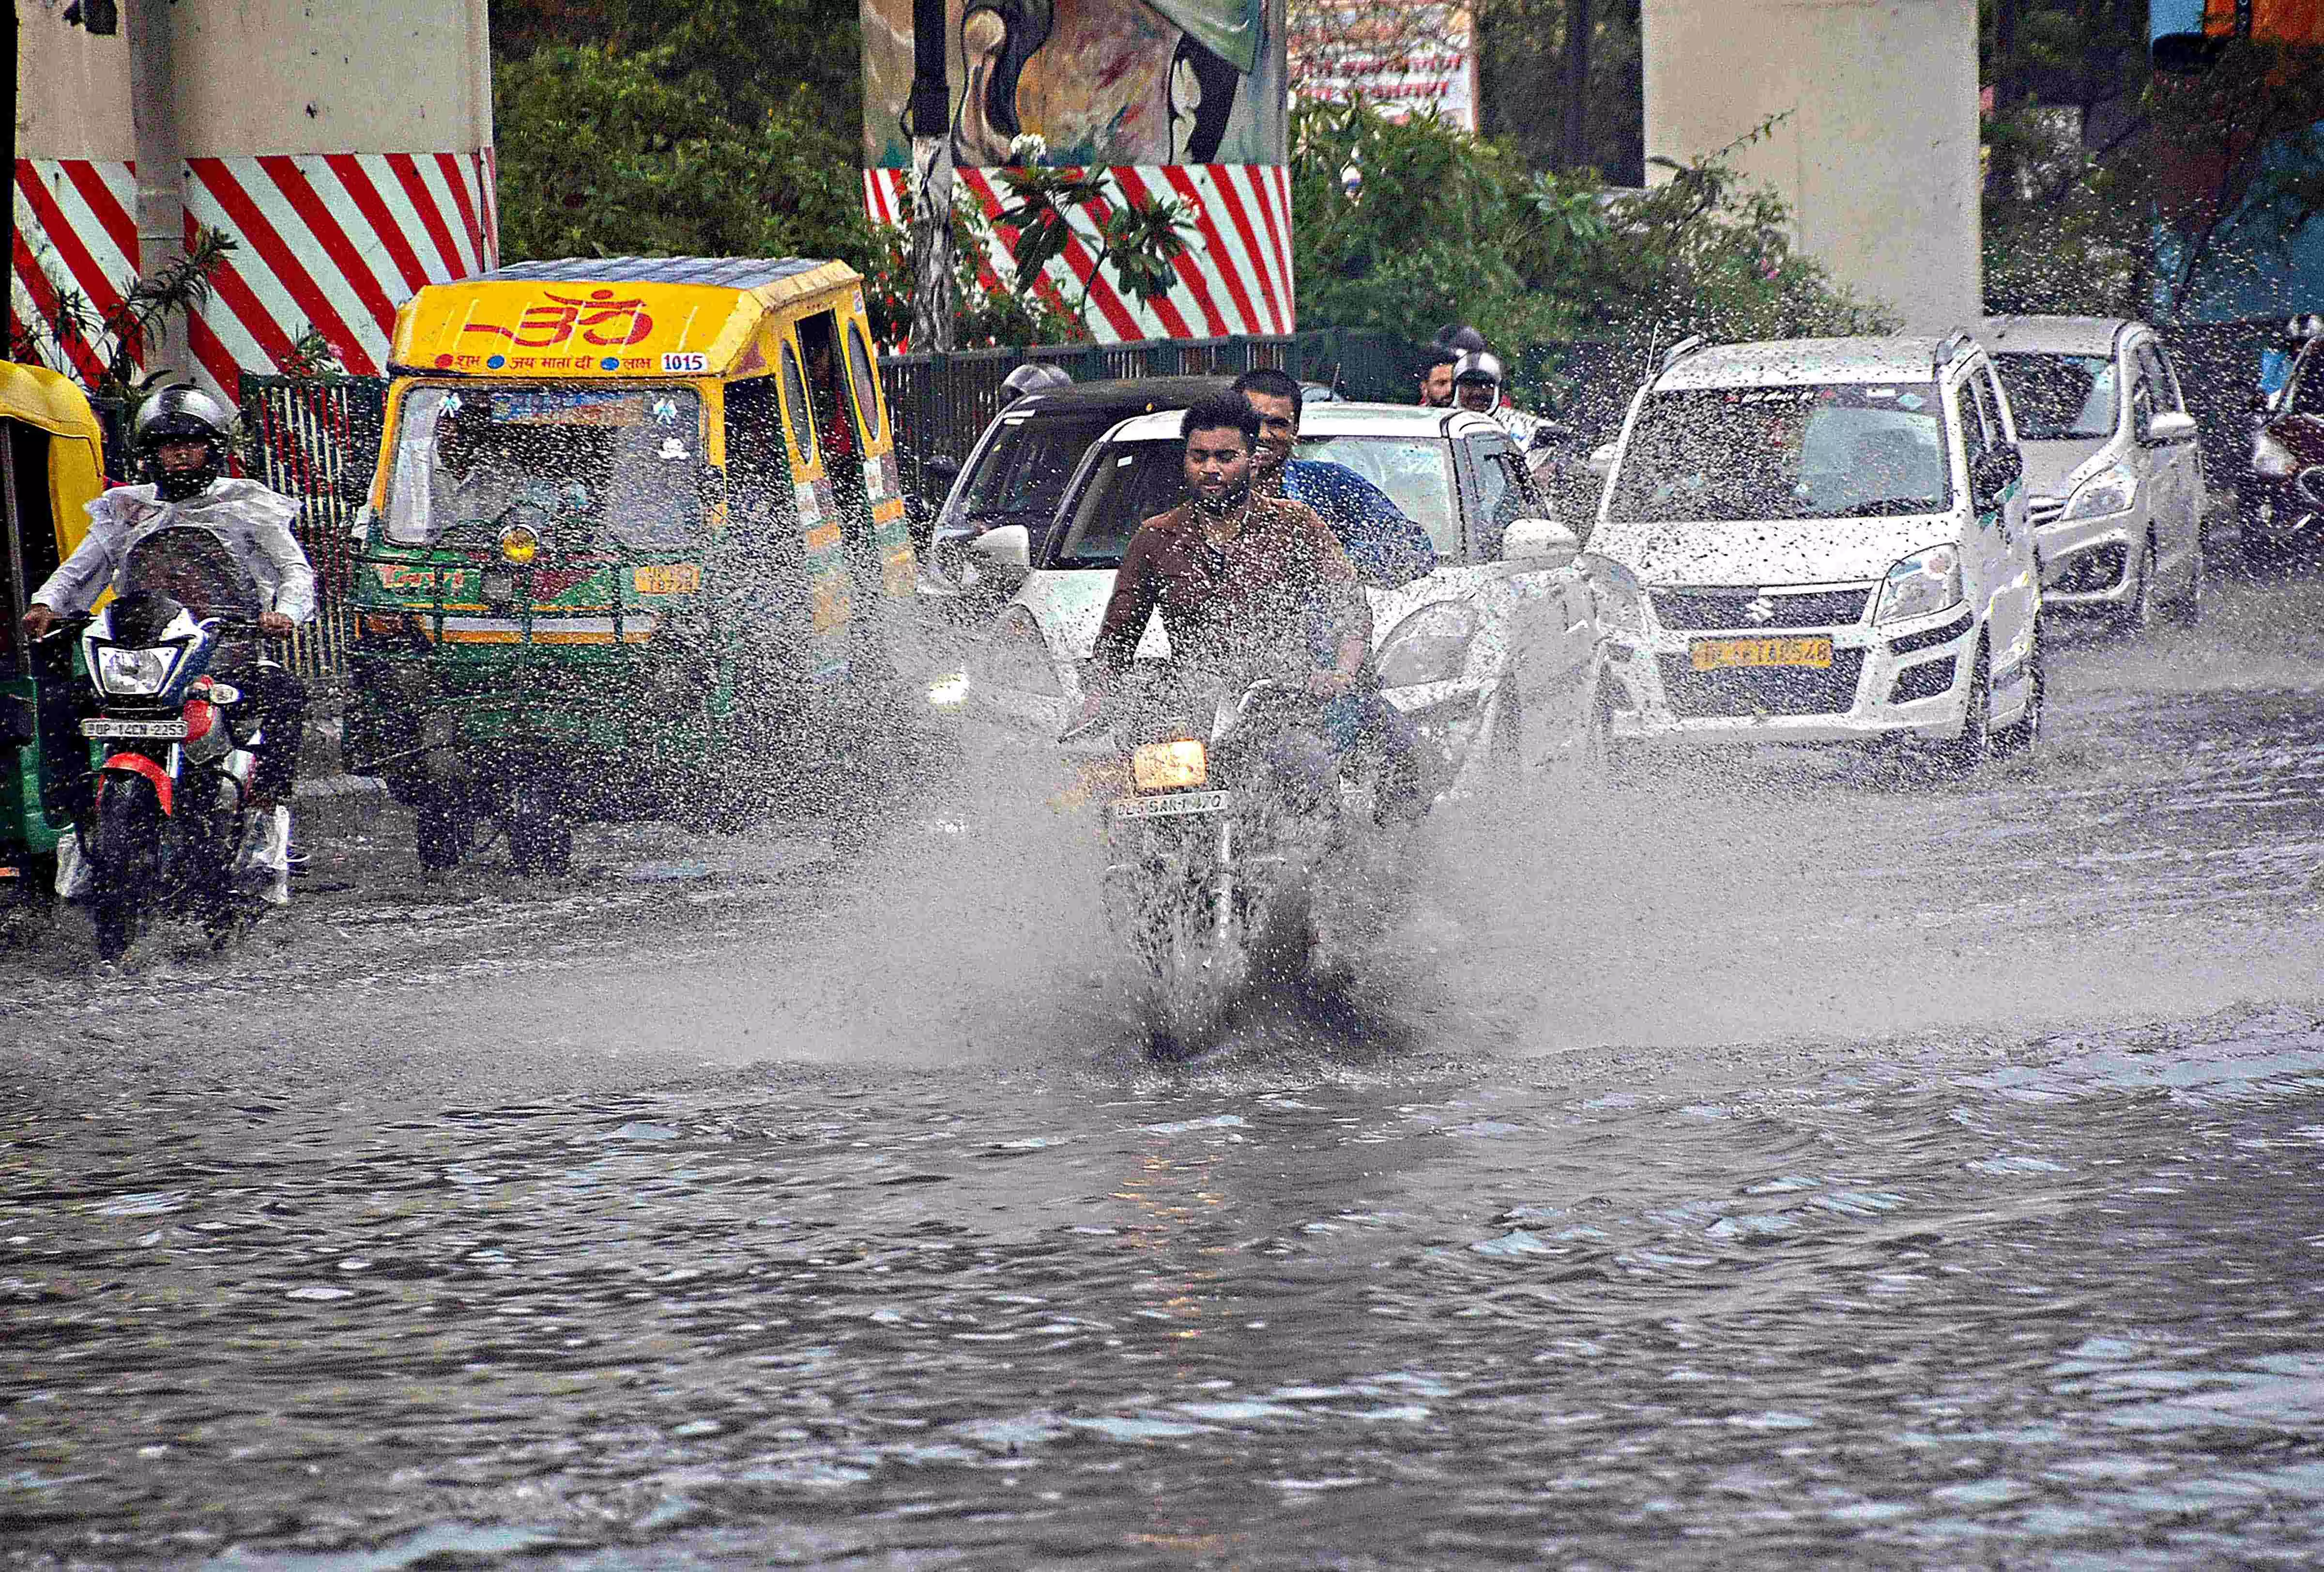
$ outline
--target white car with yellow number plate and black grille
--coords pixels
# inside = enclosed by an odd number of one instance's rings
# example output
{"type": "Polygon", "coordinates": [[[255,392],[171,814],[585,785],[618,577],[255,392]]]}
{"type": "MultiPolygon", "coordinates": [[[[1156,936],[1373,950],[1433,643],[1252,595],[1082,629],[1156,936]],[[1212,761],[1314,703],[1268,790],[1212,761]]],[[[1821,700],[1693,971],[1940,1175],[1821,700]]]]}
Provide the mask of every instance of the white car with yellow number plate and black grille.
{"type": "Polygon", "coordinates": [[[2040,728],[2010,405],[1968,333],[1680,344],[1638,391],[1592,551],[1643,584],[1615,737],[1941,744],[2040,728]]]}

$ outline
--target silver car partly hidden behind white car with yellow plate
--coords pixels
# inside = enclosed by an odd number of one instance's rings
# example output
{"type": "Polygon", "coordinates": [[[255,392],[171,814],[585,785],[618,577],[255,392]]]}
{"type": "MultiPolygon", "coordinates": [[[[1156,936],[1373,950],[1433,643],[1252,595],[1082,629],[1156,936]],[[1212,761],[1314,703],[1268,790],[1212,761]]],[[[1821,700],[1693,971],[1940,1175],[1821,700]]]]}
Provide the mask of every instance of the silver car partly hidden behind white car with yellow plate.
{"type": "Polygon", "coordinates": [[[2203,456],[2171,356],[2115,316],[1978,328],[2017,416],[2043,607],[2150,628],[2203,616],[2203,456]]]}

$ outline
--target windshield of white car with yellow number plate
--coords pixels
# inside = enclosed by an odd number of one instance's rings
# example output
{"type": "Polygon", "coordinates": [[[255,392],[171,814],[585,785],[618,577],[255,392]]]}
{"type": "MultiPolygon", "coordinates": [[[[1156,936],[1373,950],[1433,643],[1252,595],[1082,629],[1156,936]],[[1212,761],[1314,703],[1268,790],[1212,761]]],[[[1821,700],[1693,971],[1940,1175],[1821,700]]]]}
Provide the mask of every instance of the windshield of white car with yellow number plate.
{"type": "Polygon", "coordinates": [[[1613,479],[1624,521],[1864,519],[1952,505],[1929,381],[1655,393],[1613,479]]]}

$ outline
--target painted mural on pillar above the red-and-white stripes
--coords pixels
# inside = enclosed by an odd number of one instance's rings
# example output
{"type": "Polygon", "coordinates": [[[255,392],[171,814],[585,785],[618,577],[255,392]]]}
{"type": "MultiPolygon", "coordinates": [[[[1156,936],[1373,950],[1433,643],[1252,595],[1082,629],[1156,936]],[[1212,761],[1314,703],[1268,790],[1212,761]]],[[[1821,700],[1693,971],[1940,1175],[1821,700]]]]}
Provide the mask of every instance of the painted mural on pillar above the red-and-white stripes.
{"type": "MultiPolygon", "coordinates": [[[[911,0],[862,28],[865,165],[902,170],[911,0]]],[[[1283,0],[948,0],[946,40],[960,165],[1283,163],[1283,0]]]]}

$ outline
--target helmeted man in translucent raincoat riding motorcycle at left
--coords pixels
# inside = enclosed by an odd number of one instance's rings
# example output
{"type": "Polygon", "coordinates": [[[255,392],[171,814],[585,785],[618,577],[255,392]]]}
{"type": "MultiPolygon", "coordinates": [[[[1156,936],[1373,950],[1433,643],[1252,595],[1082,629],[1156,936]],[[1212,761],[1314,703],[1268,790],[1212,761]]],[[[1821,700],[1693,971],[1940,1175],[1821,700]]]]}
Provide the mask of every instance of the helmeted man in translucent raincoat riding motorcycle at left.
{"type": "MultiPolygon", "coordinates": [[[[216,537],[246,579],[242,607],[193,605],[181,598],[195,616],[256,609],[258,633],[265,637],[288,637],[314,616],[314,567],[290,533],[300,505],[260,481],[225,477],[232,421],[218,400],[191,386],[170,386],[146,400],[130,430],[146,484],[116,486],[88,505],[88,535],[33,591],[33,605],[23,614],[28,637],[46,637],[63,619],[86,614],[107,586],[123,593],[130,553],[172,528],[216,537]]],[[[193,581],[170,588],[198,593],[193,581]]],[[[265,728],[265,742],[253,749],[249,807],[267,835],[258,856],[270,872],[265,898],[281,905],[288,900],[288,814],[272,809],[290,798],[307,688],[249,644],[228,644],[214,670],[242,688],[242,702],[265,728]]]]}

